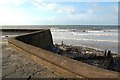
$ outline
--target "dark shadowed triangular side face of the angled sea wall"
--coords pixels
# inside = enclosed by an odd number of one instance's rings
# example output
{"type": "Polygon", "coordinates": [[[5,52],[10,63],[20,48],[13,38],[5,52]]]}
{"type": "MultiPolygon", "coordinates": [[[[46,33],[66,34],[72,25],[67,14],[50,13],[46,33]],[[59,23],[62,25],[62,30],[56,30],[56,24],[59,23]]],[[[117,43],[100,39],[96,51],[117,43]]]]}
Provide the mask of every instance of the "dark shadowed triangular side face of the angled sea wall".
{"type": "Polygon", "coordinates": [[[53,40],[50,30],[40,30],[30,34],[16,37],[17,40],[27,44],[40,47],[43,49],[50,49],[53,46],[53,40]]]}

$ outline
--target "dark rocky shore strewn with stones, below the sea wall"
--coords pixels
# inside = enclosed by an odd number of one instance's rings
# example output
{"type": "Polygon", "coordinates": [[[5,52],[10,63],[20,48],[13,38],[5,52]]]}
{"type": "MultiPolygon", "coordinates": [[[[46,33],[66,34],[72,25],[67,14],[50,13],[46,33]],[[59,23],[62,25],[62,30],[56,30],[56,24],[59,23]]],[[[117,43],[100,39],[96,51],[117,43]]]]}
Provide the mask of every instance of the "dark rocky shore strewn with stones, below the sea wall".
{"type": "Polygon", "coordinates": [[[105,57],[105,51],[90,47],[65,44],[55,44],[54,46],[57,50],[53,52],[59,55],[66,56],[96,67],[120,72],[120,68],[118,67],[120,66],[120,56],[116,53],[111,52],[110,57],[105,57]]]}

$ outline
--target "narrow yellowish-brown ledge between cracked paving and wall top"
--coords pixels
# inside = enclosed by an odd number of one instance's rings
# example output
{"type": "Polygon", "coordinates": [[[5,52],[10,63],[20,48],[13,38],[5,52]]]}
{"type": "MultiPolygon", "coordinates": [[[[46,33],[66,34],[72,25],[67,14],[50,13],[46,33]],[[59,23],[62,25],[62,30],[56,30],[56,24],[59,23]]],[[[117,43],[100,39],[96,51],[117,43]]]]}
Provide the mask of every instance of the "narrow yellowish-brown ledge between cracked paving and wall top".
{"type": "MultiPolygon", "coordinates": [[[[24,50],[16,47],[15,45],[11,44],[11,46],[16,48],[17,50],[19,50],[23,54],[25,54],[27,57],[29,57],[32,60],[34,60],[36,63],[44,65],[45,67],[47,67],[48,69],[52,70],[53,72],[56,72],[56,73],[59,73],[59,74],[63,75],[65,78],[76,78],[75,74],[73,74],[73,73],[71,73],[71,72],[69,72],[69,71],[67,71],[67,70],[65,70],[63,68],[60,68],[57,65],[54,65],[54,64],[50,63],[49,61],[41,59],[41,58],[39,58],[36,55],[30,54],[29,52],[24,51],[24,50]]],[[[83,78],[81,76],[77,76],[77,77],[83,78]]]]}

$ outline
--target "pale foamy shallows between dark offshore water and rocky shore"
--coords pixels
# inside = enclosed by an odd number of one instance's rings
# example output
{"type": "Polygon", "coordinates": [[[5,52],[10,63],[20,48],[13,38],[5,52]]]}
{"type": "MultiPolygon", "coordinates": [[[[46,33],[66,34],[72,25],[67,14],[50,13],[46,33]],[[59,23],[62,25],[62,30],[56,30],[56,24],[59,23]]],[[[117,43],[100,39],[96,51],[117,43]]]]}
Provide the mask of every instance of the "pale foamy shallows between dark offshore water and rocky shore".
{"type": "Polygon", "coordinates": [[[54,43],[63,41],[69,45],[93,45],[90,47],[109,49],[114,52],[118,47],[118,30],[80,30],[80,29],[51,29],[54,43]],[[97,45],[97,47],[96,47],[97,45]]]}

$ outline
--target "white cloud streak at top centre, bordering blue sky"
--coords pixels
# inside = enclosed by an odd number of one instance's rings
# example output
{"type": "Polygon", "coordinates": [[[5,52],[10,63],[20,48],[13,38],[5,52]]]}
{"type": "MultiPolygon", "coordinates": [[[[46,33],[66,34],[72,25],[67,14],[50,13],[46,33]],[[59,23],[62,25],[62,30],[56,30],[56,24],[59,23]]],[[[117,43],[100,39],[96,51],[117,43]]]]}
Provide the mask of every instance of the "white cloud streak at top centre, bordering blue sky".
{"type": "Polygon", "coordinates": [[[39,10],[53,11],[61,14],[74,14],[77,12],[77,8],[71,5],[61,5],[54,2],[46,3],[38,0],[33,1],[32,4],[39,10]]]}

